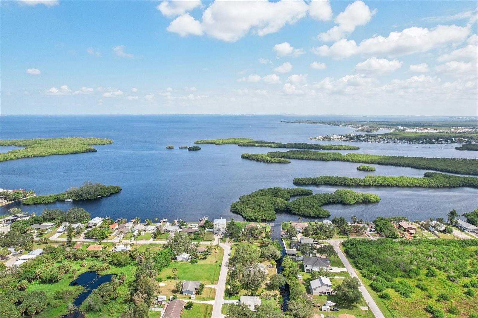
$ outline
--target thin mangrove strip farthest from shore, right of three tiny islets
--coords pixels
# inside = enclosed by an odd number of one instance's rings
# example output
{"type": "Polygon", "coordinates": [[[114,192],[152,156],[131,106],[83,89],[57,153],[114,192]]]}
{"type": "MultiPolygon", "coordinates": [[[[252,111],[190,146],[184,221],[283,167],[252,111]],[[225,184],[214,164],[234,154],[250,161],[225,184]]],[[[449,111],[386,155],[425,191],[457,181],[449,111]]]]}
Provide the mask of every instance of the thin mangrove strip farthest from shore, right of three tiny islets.
{"type": "Polygon", "coordinates": [[[319,145],[307,143],[287,143],[273,141],[260,141],[250,138],[219,138],[196,140],[195,144],[214,144],[214,145],[238,145],[240,147],[270,147],[270,148],[295,148],[295,149],[314,149],[314,150],[357,150],[359,147],[349,145],[319,145]]]}

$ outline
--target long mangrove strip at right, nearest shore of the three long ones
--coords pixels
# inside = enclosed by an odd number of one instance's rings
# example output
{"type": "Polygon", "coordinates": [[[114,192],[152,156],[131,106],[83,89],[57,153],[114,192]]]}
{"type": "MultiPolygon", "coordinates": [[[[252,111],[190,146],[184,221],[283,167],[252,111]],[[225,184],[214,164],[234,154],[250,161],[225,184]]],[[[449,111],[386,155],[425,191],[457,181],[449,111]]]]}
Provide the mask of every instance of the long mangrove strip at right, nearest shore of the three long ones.
{"type": "Polygon", "coordinates": [[[340,185],[350,187],[471,187],[478,188],[478,178],[462,177],[438,172],[425,172],[423,178],[386,177],[368,175],[365,178],[321,176],[315,178],[295,178],[296,185],[340,185]]]}

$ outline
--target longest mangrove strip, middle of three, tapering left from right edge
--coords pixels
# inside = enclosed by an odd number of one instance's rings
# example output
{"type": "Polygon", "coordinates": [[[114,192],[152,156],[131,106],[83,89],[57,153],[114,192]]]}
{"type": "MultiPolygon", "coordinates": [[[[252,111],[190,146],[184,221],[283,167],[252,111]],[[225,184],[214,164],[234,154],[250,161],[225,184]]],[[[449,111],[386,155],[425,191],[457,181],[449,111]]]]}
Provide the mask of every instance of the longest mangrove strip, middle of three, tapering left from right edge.
{"type": "MultiPolygon", "coordinates": [[[[342,155],[340,152],[314,150],[272,151],[262,155],[268,155],[271,158],[361,162],[384,166],[410,167],[415,169],[478,175],[478,165],[473,159],[460,160],[455,158],[380,156],[360,153],[342,155]]],[[[241,155],[241,157],[257,161],[267,160],[267,158],[251,156],[251,154],[244,157],[241,155]]]]}

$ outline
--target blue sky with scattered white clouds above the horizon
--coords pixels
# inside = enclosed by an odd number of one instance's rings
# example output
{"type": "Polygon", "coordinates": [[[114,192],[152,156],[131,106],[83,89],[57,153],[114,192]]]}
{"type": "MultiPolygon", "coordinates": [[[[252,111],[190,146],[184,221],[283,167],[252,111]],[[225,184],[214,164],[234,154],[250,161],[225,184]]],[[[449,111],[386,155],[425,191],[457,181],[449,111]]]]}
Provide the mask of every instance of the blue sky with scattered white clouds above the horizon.
{"type": "Polygon", "coordinates": [[[478,115],[475,1],[2,1],[1,114],[478,115]]]}

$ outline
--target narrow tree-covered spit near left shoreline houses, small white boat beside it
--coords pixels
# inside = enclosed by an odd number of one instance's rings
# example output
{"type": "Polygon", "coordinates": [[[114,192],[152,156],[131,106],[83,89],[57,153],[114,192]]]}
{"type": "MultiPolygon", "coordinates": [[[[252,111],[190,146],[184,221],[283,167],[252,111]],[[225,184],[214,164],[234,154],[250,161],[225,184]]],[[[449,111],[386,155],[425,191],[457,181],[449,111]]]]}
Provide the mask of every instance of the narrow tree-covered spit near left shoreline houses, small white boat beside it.
{"type": "Polygon", "coordinates": [[[72,187],[71,189],[58,194],[37,195],[27,198],[22,201],[23,204],[40,204],[50,203],[57,200],[73,199],[73,200],[93,200],[98,197],[105,197],[107,195],[118,193],[121,191],[120,186],[109,185],[106,186],[101,183],[85,182],[79,188],[72,187]]]}

